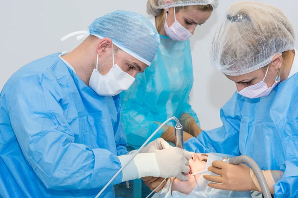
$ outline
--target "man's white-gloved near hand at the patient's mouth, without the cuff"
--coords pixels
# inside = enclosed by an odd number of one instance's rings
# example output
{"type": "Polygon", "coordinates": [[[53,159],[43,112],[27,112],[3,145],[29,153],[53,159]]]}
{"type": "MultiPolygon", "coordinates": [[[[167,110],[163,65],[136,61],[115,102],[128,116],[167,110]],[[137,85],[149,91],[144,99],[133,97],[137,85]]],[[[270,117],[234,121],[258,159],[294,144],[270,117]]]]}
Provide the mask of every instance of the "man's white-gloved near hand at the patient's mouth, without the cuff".
{"type": "Polygon", "coordinates": [[[162,178],[176,177],[187,181],[184,174],[189,173],[189,159],[191,153],[181,148],[173,147],[155,151],[156,161],[159,167],[159,176],[162,178]]]}

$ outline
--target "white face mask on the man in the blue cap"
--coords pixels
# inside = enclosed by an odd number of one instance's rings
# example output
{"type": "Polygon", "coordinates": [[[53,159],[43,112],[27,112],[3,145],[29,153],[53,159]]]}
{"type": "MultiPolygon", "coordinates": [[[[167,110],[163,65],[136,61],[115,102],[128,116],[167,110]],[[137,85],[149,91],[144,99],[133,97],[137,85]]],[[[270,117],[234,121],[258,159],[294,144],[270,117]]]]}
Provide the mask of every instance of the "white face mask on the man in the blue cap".
{"type": "Polygon", "coordinates": [[[116,96],[123,90],[128,90],[136,80],[134,77],[124,72],[114,62],[114,48],[112,45],[113,67],[106,75],[101,75],[98,71],[98,54],[96,69],[93,69],[89,86],[99,96],[116,96]]]}

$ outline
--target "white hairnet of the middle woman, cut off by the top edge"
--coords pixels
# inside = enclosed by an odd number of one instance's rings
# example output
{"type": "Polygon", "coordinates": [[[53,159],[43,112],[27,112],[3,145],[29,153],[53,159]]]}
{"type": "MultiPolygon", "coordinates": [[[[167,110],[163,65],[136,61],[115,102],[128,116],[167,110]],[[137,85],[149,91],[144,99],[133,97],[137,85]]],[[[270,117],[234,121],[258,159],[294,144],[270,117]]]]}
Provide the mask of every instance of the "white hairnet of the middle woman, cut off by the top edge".
{"type": "Polygon", "coordinates": [[[219,5],[219,0],[148,0],[147,13],[157,16],[160,14],[162,9],[167,9],[170,7],[208,4],[210,4],[213,9],[216,9],[219,5]]]}

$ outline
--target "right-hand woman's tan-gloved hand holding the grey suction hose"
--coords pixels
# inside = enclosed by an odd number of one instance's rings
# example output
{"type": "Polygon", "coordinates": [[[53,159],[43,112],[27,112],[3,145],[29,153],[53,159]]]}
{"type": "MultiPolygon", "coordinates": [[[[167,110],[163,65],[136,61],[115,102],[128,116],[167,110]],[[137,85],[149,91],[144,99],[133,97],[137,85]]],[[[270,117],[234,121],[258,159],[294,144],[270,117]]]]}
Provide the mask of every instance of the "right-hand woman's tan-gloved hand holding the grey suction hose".
{"type": "Polygon", "coordinates": [[[214,161],[208,170],[220,176],[204,175],[211,182],[209,187],[229,191],[258,191],[250,176],[250,168],[244,164],[232,165],[224,161],[214,161]]]}

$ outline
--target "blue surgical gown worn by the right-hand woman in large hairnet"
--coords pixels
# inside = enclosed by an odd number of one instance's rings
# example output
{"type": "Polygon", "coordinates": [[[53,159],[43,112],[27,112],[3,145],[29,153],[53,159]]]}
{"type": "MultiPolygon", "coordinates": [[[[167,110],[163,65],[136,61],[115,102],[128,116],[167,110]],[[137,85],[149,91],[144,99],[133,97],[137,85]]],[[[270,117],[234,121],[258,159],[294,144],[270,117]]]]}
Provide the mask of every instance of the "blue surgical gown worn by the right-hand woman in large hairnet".
{"type": "Polygon", "coordinates": [[[281,170],[275,198],[298,197],[298,73],[267,97],[235,93],[221,109],[223,126],[189,139],[185,149],[248,155],[262,170],[281,170]]]}

